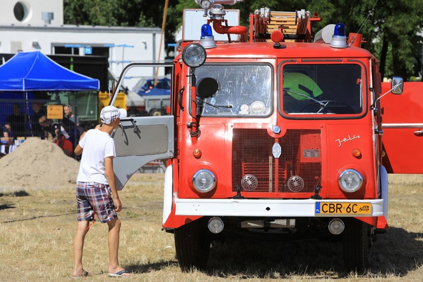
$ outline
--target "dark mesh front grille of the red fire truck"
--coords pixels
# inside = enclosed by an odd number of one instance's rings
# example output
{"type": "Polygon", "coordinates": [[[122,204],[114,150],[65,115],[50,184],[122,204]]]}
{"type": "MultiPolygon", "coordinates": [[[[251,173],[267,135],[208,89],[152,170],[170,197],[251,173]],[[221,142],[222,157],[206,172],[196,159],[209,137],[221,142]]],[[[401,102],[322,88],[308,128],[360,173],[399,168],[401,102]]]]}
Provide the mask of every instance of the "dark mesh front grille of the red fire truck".
{"type": "Polygon", "coordinates": [[[320,130],[287,130],[281,138],[266,129],[234,129],[232,191],[312,193],[321,183],[320,130]],[[281,145],[279,158],[272,154],[281,145]]]}

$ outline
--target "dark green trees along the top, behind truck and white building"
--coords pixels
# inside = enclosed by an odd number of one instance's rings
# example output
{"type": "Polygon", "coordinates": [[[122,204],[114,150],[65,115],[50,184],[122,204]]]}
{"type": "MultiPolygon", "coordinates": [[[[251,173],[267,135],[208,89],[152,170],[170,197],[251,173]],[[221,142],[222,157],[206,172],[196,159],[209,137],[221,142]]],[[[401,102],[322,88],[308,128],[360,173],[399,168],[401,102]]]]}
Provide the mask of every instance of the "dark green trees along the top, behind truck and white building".
{"type": "MultiPolygon", "coordinates": [[[[164,5],[165,0],[64,0],[64,20],[76,25],[161,27],[164,5]]],[[[319,13],[321,21],[312,24],[312,34],[342,22],[347,34],[363,35],[362,47],[376,56],[382,77],[422,77],[423,0],[243,0],[224,6],[239,9],[241,24],[246,26],[249,14],[261,7],[319,13]]],[[[168,0],[165,46],[175,42],[184,8],[200,6],[195,0],[168,0]]]]}

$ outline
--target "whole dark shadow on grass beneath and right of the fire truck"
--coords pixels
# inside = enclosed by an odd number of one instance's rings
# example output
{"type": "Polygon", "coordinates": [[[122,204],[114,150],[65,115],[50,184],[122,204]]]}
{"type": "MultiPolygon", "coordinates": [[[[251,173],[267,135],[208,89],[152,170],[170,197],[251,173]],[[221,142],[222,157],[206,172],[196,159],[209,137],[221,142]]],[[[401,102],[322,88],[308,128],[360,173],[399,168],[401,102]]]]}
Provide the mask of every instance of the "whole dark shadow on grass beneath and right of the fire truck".
{"type": "MultiPolygon", "coordinates": [[[[423,233],[391,227],[377,236],[372,247],[371,267],[360,277],[405,276],[423,265],[423,233]]],[[[283,279],[292,276],[337,279],[350,275],[342,259],[341,242],[301,240],[259,242],[227,239],[212,245],[210,276],[283,279]]]]}

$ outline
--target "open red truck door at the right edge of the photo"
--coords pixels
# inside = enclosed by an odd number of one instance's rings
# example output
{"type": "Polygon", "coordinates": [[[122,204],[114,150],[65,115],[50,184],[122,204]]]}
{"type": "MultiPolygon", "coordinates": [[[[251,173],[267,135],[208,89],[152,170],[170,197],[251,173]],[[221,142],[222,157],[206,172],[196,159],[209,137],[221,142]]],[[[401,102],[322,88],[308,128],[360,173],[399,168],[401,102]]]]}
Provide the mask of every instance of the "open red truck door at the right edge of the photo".
{"type": "MultiPolygon", "coordinates": [[[[391,83],[382,83],[382,93],[391,83]]],[[[423,173],[423,82],[405,82],[401,95],[385,95],[382,158],[388,173],[423,173]]]]}

